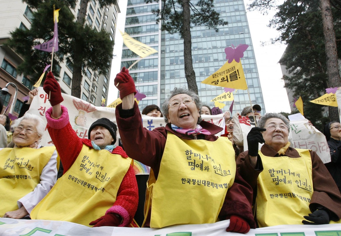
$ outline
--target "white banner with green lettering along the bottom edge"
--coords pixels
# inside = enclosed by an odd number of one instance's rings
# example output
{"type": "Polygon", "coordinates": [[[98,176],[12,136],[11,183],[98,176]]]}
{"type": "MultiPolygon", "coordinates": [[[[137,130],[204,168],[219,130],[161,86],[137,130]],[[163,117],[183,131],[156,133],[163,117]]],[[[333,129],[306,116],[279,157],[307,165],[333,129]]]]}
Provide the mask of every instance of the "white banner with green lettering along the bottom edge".
{"type": "Polygon", "coordinates": [[[247,234],[226,232],[229,220],[213,224],[188,224],[168,226],[162,229],[128,228],[128,227],[94,227],[65,221],[49,220],[16,220],[0,218],[0,235],[2,236],[75,236],[75,235],[107,235],[107,236],[221,236],[221,235],[246,235],[246,236],[338,236],[341,234],[341,224],[324,225],[278,225],[251,229],[247,234]]]}

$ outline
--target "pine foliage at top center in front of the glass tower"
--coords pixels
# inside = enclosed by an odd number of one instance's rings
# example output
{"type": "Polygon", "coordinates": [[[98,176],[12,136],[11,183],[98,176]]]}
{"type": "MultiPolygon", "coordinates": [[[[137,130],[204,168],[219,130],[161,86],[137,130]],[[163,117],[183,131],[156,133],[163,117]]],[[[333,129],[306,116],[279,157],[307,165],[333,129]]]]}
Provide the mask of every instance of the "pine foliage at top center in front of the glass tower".
{"type": "MultiPolygon", "coordinates": [[[[146,0],[146,3],[158,0],[146,0]]],[[[199,0],[194,5],[190,0],[191,23],[196,26],[204,25],[208,29],[214,29],[218,32],[219,25],[226,25],[227,22],[220,19],[220,14],[213,7],[213,0],[199,0]]],[[[182,37],[183,27],[183,2],[173,0],[163,0],[163,9],[153,11],[158,15],[157,21],[161,21],[161,29],[170,34],[180,33],[182,37]]]]}

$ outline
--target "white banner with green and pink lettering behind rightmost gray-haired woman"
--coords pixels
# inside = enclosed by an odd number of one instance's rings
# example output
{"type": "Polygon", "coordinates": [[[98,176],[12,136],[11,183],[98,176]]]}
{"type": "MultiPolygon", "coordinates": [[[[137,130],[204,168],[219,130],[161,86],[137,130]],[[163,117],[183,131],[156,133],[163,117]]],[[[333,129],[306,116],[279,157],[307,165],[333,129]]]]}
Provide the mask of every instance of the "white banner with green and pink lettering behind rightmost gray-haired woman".
{"type": "Polygon", "coordinates": [[[323,163],[331,161],[326,137],[307,119],[290,121],[288,141],[292,148],[313,150],[323,163]]]}

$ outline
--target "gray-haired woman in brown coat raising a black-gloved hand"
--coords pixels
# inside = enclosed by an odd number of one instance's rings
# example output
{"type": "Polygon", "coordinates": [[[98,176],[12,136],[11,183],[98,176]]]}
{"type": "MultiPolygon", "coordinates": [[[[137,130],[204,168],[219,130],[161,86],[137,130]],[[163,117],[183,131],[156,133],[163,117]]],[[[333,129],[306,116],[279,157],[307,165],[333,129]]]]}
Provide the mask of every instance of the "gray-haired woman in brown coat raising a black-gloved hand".
{"type": "Polygon", "coordinates": [[[259,227],[328,224],[341,217],[341,195],[315,152],[291,148],[289,121],[267,113],[248,134],[237,166],[253,187],[259,227]],[[265,143],[258,150],[258,143],[265,143]],[[263,171],[264,169],[264,171],[263,171]]]}

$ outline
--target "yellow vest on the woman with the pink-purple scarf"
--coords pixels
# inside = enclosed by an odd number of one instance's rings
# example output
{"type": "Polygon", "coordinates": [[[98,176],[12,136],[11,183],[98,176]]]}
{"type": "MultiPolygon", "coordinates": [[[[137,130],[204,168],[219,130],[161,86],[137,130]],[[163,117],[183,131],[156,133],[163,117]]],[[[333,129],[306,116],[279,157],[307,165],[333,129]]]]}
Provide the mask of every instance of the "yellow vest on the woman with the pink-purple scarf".
{"type": "Polygon", "coordinates": [[[236,173],[226,137],[180,139],[168,132],[158,179],[152,189],[150,227],[214,223],[236,173]]]}

